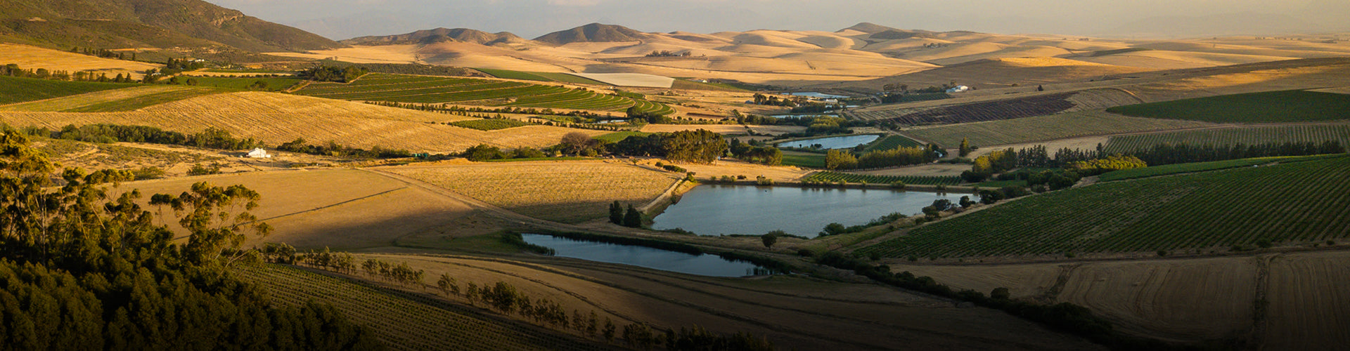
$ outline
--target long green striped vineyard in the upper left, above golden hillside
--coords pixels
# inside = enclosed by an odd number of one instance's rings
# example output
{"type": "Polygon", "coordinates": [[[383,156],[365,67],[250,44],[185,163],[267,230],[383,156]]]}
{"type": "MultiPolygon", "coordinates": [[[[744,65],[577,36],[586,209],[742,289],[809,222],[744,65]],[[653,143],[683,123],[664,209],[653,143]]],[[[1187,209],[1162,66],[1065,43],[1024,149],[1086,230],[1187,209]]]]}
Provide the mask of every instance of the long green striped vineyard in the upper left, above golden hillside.
{"type": "Polygon", "coordinates": [[[297,90],[327,99],[396,101],[414,104],[474,104],[491,107],[624,111],[637,105],[645,112],[674,112],[668,105],[621,96],[536,85],[458,77],[423,77],[373,73],[351,84],[320,82],[297,90]]]}

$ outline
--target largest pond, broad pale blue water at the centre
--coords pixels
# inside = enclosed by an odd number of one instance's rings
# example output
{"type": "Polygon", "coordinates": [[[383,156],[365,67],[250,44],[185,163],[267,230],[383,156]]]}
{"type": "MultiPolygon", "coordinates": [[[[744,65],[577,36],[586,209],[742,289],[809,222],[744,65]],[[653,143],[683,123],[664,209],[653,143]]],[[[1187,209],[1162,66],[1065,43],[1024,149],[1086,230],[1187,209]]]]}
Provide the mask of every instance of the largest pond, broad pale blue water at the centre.
{"type": "MultiPolygon", "coordinates": [[[[867,224],[891,215],[918,215],[933,200],[953,204],[963,193],[888,189],[699,185],[653,219],[652,228],[682,228],[698,235],[765,234],[782,230],[815,238],[826,224],[867,224]]],[[[979,200],[971,196],[971,200],[979,200]]]]}

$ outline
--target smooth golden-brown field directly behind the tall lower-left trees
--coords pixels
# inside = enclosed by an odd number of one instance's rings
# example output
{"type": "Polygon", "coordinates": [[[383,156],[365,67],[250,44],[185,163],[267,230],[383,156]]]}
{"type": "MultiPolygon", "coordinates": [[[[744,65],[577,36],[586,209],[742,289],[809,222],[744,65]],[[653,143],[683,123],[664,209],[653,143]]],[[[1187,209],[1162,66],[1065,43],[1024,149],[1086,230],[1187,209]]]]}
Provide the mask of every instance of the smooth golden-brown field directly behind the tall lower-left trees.
{"type": "MultiPolygon", "coordinates": [[[[262,196],[251,213],[274,228],[261,242],[281,242],[301,250],[354,250],[392,246],[398,238],[447,225],[473,209],[444,194],[364,170],[285,170],[217,174],[123,184],[151,194],[178,194],[194,182],[243,185],[262,196]]],[[[151,211],[157,208],[150,207],[151,211]]],[[[173,216],[171,209],[163,209],[173,216]]],[[[173,220],[169,227],[185,234],[173,220]]]]}

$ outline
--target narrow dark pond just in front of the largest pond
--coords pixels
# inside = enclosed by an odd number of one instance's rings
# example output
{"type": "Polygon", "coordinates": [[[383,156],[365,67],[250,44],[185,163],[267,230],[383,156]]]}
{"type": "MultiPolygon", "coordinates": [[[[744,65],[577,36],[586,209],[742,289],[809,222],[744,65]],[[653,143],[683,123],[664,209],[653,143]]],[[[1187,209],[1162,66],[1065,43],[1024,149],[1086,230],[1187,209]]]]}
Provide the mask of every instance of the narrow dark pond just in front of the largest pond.
{"type": "Polygon", "coordinates": [[[633,265],[656,270],[707,277],[745,277],[763,274],[764,269],[749,262],[729,261],[718,255],[691,255],[643,246],[583,242],[541,234],[521,234],[526,243],[554,248],[555,255],[586,261],[633,265]]]}

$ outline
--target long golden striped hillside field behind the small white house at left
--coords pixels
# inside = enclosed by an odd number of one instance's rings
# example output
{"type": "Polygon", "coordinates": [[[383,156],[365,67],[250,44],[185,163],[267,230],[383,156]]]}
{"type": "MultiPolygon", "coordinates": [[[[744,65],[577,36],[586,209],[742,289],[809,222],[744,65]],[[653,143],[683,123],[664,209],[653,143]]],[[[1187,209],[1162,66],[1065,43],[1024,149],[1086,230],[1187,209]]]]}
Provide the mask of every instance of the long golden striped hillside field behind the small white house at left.
{"type": "Polygon", "coordinates": [[[333,140],[360,148],[381,146],[416,153],[458,153],[481,143],[505,148],[547,147],[556,144],[568,132],[591,136],[605,134],[548,126],[479,131],[439,124],[466,119],[470,117],[261,92],[202,96],[134,112],[0,112],[0,122],[16,127],[61,128],[66,124],[109,123],[151,126],[185,134],[216,127],[267,144],[304,138],[309,143],[333,140]]]}

